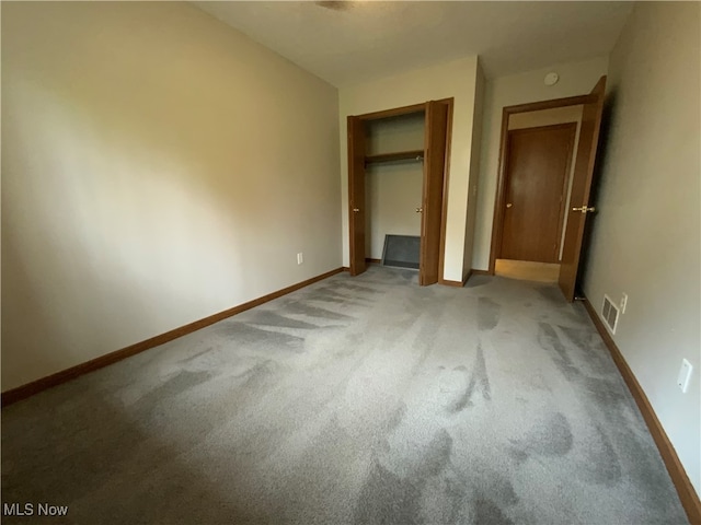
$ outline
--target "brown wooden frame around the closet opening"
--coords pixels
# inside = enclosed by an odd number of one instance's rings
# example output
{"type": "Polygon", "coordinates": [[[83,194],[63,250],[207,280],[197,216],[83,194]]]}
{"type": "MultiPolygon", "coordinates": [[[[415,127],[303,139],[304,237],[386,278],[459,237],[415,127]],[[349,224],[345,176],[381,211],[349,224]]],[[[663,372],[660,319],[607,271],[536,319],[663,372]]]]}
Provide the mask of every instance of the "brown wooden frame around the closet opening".
{"type": "MultiPolygon", "coordinates": [[[[428,101],[430,102],[430,101],[428,101]]],[[[411,104],[401,107],[394,107],[392,109],[383,109],[380,112],[365,113],[363,115],[348,115],[346,120],[349,117],[355,117],[363,122],[368,122],[372,120],[380,120],[383,118],[390,117],[399,117],[402,115],[411,115],[413,113],[426,112],[428,102],[422,102],[421,104],[411,104]]],[[[440,238],[439,238],[439,253],[438,253],[438,283],[445,284],[444,280],[444,267],[445,267],[445,254],[446,254],[446,228],[448,222],[448,182],[450,175],[450,151],[451,151],[451,142],[452,142],[452,109],[455,104],[455,98],[440,98],[438,101],[440,104],[446,104],[448,106],[448,121],[447,121],[447,130],[446,130],[446,159],[444,166],[444,182],[443,182],[443,195],[441,195],[441,206],[440,206],[440,238]]],[[[426,130],[424,130],[424,133],[426,130]]],[[[346,141],[348,137],[346,137],[346,141]]],[[[424,145],[425,148],[425,145],[424,145]]],[[[425,153],[425,152],[424,152],[425,153]]],[[[426,177],[426,171],[424,166],[424,175],[426,177]]],[[[423,183],[422,183],[423,184],[423,183]]],[[[350,191],[350,164],[348,163],[348,191],[350,191]]],[[[423,189],[422,189],[422,202],[423,202],[423,189]]],[[[350,205],[350,192],[348,192],[348,205],[350,205]]],[[[367,206],[367,202],[366,202],[367,206]]],[[[352,226],[352,217],[350,217],[350,206],[348,206],[348,243],[350,247],[353,246],[353,226],[352,226]]],[[[367,229],[366,229],[367,230],[367,229]]],[[[366,231],[367,235],[367,231],[366,231]]],[[[423,237],[423,234],[422,234],[423,237]]],[[[423,241],[423,240],[422,240],[423,241]]],[[[350,252],[348,252],[350,257],[350,252]]],[[[421,268],[420,268],[421,271],[421,268]]]]}

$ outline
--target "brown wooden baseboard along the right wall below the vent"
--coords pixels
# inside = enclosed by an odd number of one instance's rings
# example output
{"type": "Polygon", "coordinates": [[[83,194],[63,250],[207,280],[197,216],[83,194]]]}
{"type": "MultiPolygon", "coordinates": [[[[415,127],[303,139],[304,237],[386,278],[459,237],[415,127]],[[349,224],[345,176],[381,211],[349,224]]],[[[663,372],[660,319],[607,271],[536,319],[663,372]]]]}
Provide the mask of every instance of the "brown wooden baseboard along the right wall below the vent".
{"type": "Polygon", "coordinates": [[[584,306],[586,307],[589,317],[594,322],[594,326],[601,335],[604,342],[606,343],[609,352],[611,353],[611,358],[613,358],[613,362],[616,366],[618,366],[619,372],[623,376],[623,381],[628,385],[628,388],[631,390],[633,395],[633,399],[637,404],[637,408],[643,415],[643,419],[645,423],[647,423],[647,429],[655,440],[655,444],[659,450],[659,454],[662,455],[663,460],[665,462],[665,466],[667,467],[667,471],[669,472],[669,477],[671,478],[675,488],[677,489],[677,493],[679,494],[679,501],[681,501],[681,505],[687,513],[687,517],[692,525],[701,524],[701,500],[697,494],[689,477],[687,476],[681,462],[679,460],[679,456],[677,456],[677,452],[675,451],[674,445],[669,441],[667,433],[662,427],[662,423],[657,419],[655,411],[653,410],[645,392],[642,386],[635,378],[633,371],[628,365],[625,358],[619,350],[616,341],[610,336],[608,330],[604,327],[604,323],[599,318],[598,314],[594,310],[591,303],[585,299],[584,306]]]}

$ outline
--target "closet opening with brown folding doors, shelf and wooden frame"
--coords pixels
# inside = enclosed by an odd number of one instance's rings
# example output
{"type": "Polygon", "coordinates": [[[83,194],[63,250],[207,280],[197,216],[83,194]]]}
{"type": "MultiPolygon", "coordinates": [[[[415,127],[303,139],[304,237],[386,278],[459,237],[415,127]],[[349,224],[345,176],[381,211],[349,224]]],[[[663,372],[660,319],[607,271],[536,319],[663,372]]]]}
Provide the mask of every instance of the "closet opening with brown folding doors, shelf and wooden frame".
{"type": "Polygon", "coordinates": [[[368,262],[443,279],[452,98],[348,117],[350,275],[368,262]]]}

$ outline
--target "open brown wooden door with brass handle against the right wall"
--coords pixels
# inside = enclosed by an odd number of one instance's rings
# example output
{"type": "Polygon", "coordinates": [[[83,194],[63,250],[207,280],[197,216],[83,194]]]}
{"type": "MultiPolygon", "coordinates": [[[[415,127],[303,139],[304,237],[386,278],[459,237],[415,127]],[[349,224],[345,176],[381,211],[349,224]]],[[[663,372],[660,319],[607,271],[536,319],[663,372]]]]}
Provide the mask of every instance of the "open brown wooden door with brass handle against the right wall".
{"type": "Polygon", "coordinates": [[[594,178],[599,131],[601,129],[605,94],[606,77],[601,77],[594,90],[591,90],[589,102],[584,104],[582,112],[582,127],[579,129],[577,158],[574,165],[572,196],[570,198],[570,210],[567,210],[567,226],[565,228],[559,279],[560,289],[570,302],[574,301],[586,220],[589,212],[594,211],[594,208],[589,207],[589,194],[594,178]]]}

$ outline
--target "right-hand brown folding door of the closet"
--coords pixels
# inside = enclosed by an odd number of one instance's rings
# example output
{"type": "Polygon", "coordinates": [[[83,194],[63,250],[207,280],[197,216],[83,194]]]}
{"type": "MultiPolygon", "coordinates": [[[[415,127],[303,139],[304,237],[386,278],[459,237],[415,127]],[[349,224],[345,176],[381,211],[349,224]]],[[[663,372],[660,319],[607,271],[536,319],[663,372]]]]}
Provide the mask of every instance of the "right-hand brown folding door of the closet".
{"type": "Polygon", "coordinates": [[[425,133],[418,271],[418,283],[422,287],[438,282],[440,273],[440,223],[448,133],[447,104],[434,101],[426,103],[425,133]]]}

